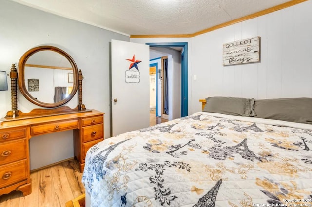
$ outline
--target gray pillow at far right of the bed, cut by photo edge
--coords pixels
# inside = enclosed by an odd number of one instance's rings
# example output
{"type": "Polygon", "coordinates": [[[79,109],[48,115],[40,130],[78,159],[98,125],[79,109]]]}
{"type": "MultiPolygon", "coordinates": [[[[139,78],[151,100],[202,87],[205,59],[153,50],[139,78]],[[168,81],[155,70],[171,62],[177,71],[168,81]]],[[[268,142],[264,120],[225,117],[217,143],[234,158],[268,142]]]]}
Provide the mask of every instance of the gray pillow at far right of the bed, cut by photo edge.
{"type": "Polygon", "coordinates": [[[312,124],[312,98],[275,98],[255,100],[257,118],[312,124]]]}

